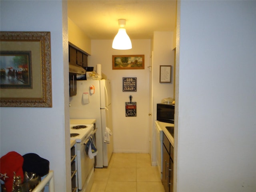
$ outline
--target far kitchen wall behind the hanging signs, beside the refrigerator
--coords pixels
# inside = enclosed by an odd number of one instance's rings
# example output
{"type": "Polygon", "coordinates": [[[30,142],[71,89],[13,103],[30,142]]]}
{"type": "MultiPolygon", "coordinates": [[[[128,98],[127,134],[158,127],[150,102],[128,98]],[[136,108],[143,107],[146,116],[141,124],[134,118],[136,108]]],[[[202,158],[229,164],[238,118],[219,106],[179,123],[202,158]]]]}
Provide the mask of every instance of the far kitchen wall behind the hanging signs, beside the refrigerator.
{"type": "Polygon", "coordinates": [[[112,49],[112,40],[92,40],[88,66],[102,64],[102,73],[112,83],[114,152],[149,152],[150,40],[132,40],[131,50],[112,49]],[[112,70],[112,55],[145,55],[144,70],[112,70]],[[137,77],[137,92],[123,92],[122,78],[137,77]],[[125,102],[137,102],[137,117],[125,116],[125,102]]]}

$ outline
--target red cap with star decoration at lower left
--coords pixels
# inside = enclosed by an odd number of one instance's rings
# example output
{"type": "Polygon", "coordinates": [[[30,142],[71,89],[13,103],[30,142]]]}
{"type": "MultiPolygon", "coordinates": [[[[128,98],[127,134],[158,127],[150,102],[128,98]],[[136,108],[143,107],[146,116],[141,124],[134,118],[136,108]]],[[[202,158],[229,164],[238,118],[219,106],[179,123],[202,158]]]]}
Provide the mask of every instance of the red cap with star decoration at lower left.
{"type": "Polygon", "coordinates": [[[5,183],[6,192],[12,191],[14,172],[16,173],[16,176],[21,176],[23,182],[23,162],[24,158],[15,151],[8,152],[0,158],[1,180],[5,183]]]}

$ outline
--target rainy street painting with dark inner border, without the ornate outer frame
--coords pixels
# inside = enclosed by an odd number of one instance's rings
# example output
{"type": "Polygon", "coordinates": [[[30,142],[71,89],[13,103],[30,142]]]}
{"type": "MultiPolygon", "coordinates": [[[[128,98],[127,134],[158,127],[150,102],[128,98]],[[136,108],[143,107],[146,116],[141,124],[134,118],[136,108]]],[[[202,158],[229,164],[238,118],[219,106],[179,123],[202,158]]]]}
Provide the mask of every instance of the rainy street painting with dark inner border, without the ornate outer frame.
{"type": "Polygon", "coordinates": [[[0,52],[1,88],[32,88],[31,51],[0,52]]]}

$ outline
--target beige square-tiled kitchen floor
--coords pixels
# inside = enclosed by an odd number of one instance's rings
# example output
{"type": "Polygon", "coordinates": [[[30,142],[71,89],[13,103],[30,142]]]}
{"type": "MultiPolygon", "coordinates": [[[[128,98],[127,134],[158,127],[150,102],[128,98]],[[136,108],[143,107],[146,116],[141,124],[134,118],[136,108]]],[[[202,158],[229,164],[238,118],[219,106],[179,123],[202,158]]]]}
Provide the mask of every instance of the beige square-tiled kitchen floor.
{"type": "Polygon", "coordinates": [[[96,168],[91,192],[164,192],[150,155],[114,153],[108,168],[96,168]]]}

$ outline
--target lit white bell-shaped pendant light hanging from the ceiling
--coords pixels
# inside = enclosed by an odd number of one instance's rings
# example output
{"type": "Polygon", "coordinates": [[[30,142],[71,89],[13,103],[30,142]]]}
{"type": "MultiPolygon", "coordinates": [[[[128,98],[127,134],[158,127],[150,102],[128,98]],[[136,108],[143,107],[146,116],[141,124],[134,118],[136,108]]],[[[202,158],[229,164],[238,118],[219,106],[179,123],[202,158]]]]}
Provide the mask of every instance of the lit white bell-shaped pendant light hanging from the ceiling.
{"type": "Polygon", "coordinates": [[[118,24],[120,26],[118,33],[116,34],[113,43],[112,48],[118,49],[118,50],[128,50],[132,48],[132,42],[130,40],[130,37],[126,33],[126,30],[124,28],[126,24],[125,19],[119,19],[118,24]]]}

